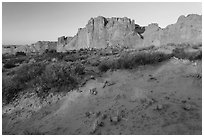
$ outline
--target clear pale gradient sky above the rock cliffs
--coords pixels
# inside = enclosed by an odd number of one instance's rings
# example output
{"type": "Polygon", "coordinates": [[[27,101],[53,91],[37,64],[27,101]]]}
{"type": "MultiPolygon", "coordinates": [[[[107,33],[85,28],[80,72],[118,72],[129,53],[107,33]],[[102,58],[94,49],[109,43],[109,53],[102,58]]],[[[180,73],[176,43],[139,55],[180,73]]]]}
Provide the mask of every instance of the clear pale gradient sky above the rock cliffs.
{"type": "Polygon", "coordinates": [[[74,36],[91,17],[128,17],[136,24],[176,23],[180,15],[202,14],[201,2],[3,2],[2,44],[31,44],[74,36]]]}

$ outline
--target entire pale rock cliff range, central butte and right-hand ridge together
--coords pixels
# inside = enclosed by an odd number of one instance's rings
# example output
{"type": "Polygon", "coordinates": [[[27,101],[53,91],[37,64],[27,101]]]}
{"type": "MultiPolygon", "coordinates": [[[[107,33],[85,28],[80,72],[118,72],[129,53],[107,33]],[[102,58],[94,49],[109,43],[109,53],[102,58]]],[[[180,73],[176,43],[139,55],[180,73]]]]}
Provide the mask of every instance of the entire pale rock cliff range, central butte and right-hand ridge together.
{"type": "Polygon", "coordinates": [[[73,37],[58,38],[57,51],[119,46],[138,48],[167,43],[201,43],[202,16],[180,16],[175,24],[162,29],[158,24],[141,27],[129,18],[91,18],[73,37]]]}

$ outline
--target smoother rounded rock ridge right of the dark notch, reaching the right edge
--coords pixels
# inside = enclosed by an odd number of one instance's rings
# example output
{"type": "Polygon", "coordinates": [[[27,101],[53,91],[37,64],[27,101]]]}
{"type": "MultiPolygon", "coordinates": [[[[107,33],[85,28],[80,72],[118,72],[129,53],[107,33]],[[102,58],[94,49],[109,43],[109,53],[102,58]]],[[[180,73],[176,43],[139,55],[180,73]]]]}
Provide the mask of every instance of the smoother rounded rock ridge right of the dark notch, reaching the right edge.
{"type": "Polygon", "coordinates": [[[168,43],[191,43],[202,42],[202,16],[180,16],[175,24],[161,29],[157,24],[145,27],[144,45],[152,44],[160,46],[168,43]]]}

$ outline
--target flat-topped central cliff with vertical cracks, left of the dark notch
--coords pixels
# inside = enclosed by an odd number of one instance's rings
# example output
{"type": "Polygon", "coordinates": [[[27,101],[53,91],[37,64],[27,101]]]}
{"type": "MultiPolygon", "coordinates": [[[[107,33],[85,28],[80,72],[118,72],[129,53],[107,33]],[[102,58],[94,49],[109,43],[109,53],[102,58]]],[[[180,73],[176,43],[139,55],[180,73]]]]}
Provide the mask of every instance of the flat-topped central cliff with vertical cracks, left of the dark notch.
{"type": "MultiPolygon", "coordinates": [[[[142,42],[138,33],[144,32],[144,28],[136,25],[134,20],[128,18],[91,18],[85,28],[67,42],[65,37],[58,38],[58,47],[61,51],[80,48],[105,48],[107,46],[134,47],[142,42]],[[66,43],[66,44],[65,44],[66,43]]],[[[60,51],[60,50],[58,50],[60,51]]]]}

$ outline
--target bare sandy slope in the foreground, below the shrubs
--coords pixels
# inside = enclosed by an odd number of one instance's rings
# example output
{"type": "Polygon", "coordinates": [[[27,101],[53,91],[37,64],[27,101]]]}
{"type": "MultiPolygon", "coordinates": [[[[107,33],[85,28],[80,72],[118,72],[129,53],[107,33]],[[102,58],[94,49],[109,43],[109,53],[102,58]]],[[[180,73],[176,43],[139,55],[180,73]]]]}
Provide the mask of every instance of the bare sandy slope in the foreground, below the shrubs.
{"type": "Polygon", "coordinates": [[[171,59],[109,71],[27,120],[3,117],[3,134],[201,134],[201,66],[171,59]]]}

